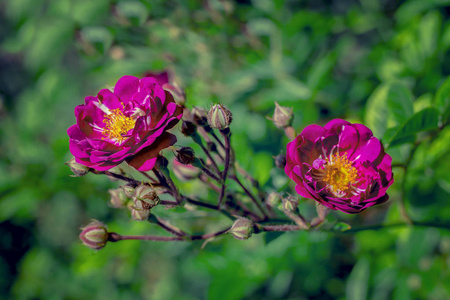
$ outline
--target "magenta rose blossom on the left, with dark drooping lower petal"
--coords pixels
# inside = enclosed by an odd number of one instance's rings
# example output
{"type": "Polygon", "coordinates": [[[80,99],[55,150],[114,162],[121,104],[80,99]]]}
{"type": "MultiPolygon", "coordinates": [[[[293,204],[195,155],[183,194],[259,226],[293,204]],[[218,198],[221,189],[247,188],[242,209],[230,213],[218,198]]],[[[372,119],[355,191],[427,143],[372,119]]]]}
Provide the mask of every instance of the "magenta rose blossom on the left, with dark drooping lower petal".
{"type": "Polygon", "coordinates": [[[104,171],[125,160],[148,171],[158,153],[177,141],[167,130],[181,119],[182,108],[158,79],[123,76],[114,92],[102,89],[86,97],[75,116],[67,133],[76,162],[104,171]]]}

